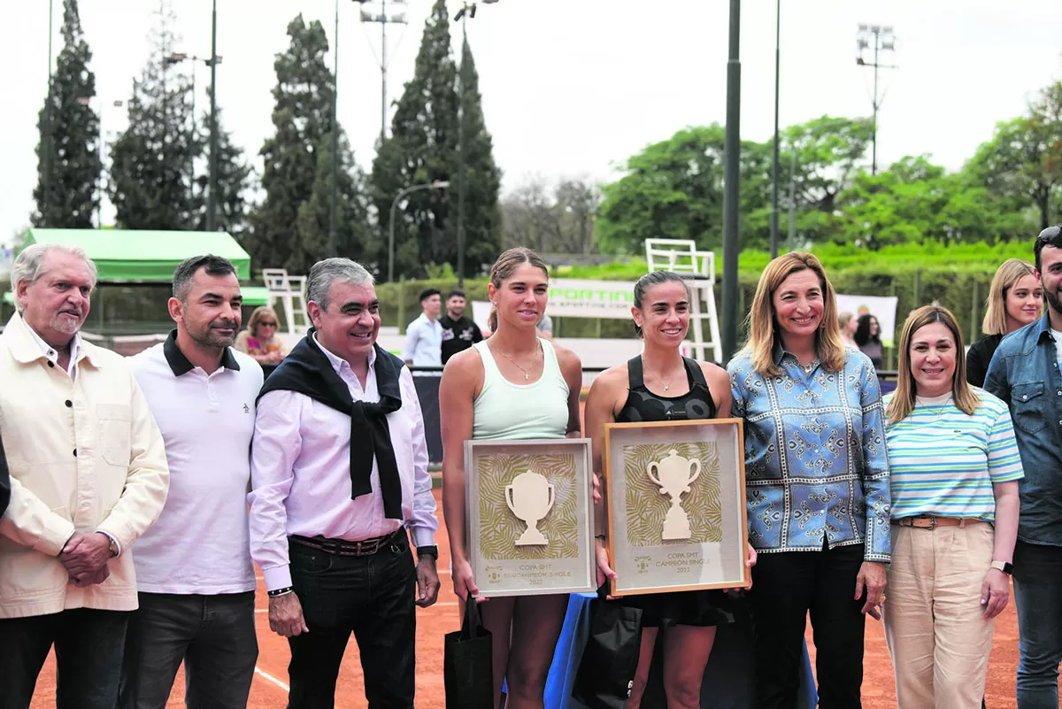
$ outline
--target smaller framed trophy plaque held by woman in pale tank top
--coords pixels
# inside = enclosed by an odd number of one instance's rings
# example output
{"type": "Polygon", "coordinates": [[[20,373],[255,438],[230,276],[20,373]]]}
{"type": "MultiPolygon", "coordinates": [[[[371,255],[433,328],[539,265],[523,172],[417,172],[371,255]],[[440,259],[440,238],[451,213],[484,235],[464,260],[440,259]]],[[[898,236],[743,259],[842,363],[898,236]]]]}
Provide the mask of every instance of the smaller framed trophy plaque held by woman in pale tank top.
{"type": "Polygon", "coordinates": [[[468,561],[481,598],[596,589],[589,438],[465,442],[468,561]]]}

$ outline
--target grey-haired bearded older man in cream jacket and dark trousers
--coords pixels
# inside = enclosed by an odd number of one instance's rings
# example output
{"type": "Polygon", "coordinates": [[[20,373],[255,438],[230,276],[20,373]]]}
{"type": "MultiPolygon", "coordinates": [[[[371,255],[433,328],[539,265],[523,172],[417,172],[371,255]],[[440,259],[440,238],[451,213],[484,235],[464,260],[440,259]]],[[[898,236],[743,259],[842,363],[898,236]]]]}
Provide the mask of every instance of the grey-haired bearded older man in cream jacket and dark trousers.
{"type": "Polygon", "coordinates": [[[118,354],[82,340],[96,266],[35,244],[11,273],[0,334],[0,709],[29,707],[52,645],[59,709],[114,709],[137,607],[131,547],[161,513],[162,436],[118,354]]]}

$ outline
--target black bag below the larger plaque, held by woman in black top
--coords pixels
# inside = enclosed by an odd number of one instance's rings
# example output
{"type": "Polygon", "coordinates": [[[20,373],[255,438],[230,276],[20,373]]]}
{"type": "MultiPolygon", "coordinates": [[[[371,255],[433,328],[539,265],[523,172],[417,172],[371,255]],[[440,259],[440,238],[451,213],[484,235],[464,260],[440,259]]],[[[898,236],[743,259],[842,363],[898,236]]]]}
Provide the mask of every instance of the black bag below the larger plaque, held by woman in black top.
{"type": "Polygon", "coordinates": [[[571,696],[588,709],[623,709],[641,650],[641,609],[590,601],[590,627],[571,696]]]}

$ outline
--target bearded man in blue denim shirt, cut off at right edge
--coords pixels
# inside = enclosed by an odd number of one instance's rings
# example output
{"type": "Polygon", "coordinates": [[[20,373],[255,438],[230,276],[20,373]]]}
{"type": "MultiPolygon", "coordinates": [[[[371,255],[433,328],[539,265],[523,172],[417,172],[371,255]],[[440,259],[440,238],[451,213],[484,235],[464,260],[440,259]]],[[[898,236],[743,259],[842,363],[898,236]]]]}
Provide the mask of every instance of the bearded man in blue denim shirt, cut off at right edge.
{"type": "Polygon", "coordinates": [[[1018,709],[1058,709],[1062,661],[1062,224],[1033,247],[1047,312],[999,344],[984,388],[1010,405],[1025,479],[1014,548],[1018,709]]]}

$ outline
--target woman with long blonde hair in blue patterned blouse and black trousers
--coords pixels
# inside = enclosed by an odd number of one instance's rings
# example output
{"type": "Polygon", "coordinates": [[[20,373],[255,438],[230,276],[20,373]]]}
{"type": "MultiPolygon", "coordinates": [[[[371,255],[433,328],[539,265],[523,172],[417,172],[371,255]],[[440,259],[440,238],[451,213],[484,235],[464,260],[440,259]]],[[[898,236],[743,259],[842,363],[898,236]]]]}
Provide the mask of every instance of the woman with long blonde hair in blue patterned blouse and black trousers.
{"type": "Polygon", "coordinates": [[[889,460],[877,376],[842,344],[819,259],[793,252],[767,265],[727,370],[758,552],[755,706],[796,705],[810,612],[819,706],[858,709],[864,615],[879,618],[891,553],[889,460]]]}

